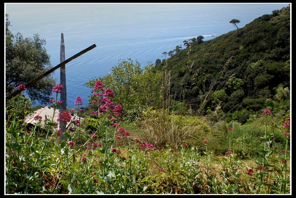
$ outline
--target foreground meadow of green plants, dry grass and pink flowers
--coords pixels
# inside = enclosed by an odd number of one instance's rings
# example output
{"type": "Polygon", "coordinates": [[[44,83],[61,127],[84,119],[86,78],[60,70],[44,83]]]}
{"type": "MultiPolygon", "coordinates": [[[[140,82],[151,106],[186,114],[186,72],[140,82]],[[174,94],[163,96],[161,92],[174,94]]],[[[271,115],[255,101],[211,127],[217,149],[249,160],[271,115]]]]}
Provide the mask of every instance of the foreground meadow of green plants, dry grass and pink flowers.
{"type": "MultiPolygon", "coordinates": [[[[53,88],[55,109],[62,88],[53,88]]],[[[147,109],[135,124],[112,98],[97,81],[96,130],[73,121],[61,142],[53,119],[28,130],[30,101],[22,94],[8,102],[5,194],[290,194],[290,119],[281,123],[264,109],[253,129],[232,122],[212,130],[192,117],[147,109]]],[[[71,121],[82,104],[76,100],[59,120],[71,121]]]]}

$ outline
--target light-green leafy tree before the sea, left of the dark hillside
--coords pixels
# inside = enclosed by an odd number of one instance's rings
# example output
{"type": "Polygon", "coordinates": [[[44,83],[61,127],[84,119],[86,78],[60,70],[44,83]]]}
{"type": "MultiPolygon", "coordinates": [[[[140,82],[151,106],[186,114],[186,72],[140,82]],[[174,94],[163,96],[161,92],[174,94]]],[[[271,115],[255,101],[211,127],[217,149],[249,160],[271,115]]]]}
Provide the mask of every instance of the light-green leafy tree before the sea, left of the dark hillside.
{"type": "MultiPolygon", "coordinates": [[[[163,74],[155,72],[154,64],[148,62],[148,66],[141,68],[139,62],[128,58],[122,60],[118,66],[111,68],[111,73],[105,77],[94,78],[85,83],[87,87],[93,88],[100,80],[104,87],[113,90],[113,102],[121,104],[125,116],[130,119],[138,116],[140,110],[145,106],[160,106],[160,83],[163,74]]],[[[91,104],[92,99],[89,103],[91,104]]]]}

